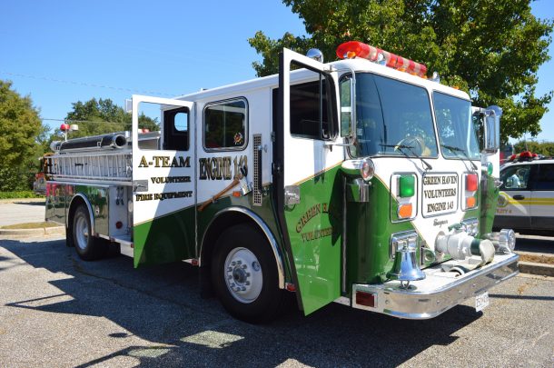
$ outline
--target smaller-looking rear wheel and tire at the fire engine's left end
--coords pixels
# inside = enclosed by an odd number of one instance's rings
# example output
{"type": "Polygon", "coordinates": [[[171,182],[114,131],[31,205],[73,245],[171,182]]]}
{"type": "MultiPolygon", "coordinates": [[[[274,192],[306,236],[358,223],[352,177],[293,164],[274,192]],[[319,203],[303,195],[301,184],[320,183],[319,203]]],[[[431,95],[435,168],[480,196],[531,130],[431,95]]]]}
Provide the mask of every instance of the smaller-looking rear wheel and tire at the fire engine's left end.
{"type": "Polygon", "coordinates": [[[84,205],[80,205],[74,213],[71,236],[77,254],[84,261],[98,260],[106,254],[104,239],[91,235],[91,219],[84,205]]]}

